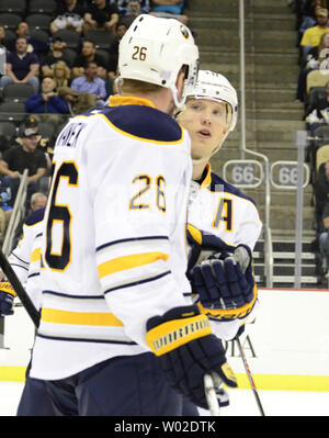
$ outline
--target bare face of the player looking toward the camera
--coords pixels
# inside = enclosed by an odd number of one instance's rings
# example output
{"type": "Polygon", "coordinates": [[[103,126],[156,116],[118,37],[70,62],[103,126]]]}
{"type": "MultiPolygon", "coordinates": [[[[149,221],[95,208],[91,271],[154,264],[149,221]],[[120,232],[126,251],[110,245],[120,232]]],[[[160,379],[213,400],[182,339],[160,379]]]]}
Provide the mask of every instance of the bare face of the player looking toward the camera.
{"type": "Polygon", "coordinates": [[[192,158],[209,158],[225,138],[230,121],[230,106],[225,102],[189,99],[178,120],[189,131],[192,158]]]}

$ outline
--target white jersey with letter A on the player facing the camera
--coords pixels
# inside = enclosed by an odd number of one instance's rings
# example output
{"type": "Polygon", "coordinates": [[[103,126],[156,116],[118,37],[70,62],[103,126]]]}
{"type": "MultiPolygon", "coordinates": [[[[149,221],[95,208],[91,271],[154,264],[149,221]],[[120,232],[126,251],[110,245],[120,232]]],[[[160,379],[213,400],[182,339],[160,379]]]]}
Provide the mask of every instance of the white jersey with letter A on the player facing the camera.
{"type": "MultiPolygon", "coordinates": [[[[248,245],[252,251],[262,228],[253,200],[212,172],[209,164],[205,173],[201,184],[191,183],[188,222],[227,244],[248,245]]],[[[229,340],[246,321],[212,322],[212,327],[220,339],[229,340]]]]}

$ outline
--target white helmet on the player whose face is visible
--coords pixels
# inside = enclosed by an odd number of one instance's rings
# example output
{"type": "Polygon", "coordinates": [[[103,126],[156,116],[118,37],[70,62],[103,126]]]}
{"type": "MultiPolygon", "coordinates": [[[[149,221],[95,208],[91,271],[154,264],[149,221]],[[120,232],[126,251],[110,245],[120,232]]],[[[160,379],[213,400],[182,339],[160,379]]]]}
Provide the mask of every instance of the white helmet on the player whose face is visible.
{"type": "Polygon", "coordinates": [[[226,102],[231,108],[229,131],[234,131],[238,119],[238,96],[225,76],[211,70],[200,70],[194,90],[189,88],[188,97],[226,102]]]}

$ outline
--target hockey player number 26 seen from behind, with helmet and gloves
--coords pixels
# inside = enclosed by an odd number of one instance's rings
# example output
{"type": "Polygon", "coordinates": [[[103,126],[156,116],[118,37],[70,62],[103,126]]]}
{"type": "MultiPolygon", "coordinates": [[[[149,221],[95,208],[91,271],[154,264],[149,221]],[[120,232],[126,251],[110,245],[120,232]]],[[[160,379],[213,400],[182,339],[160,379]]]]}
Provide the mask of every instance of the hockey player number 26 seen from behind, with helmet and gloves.
{"type": "Polygon", "coordinates": [[[236,386],[185,277],[190,137],[169,114],[197,48],[175,20],[139,15],[118,68],[121,96],[56,142],[31,377],[57,415],[181,415],[179,393],[206,406],[205,373],[236,386]]]}

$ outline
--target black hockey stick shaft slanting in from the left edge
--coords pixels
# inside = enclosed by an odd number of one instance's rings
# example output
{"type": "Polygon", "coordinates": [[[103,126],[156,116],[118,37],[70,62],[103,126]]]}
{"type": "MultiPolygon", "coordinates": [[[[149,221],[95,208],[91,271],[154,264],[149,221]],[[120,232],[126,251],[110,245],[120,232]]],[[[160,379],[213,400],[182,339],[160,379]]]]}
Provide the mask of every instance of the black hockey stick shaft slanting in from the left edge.
{"type": "Polygon", "coordinates": [[[39,325],[39,314],[36,311],[34,304],[32,303],[30,296],[27,295],[25,289],[22,287],[22,283],[18,279],[18,276],[13,271],[10,262],[7,260],[1,248],[0,248],[0,268],[2,269],[10,284],[12,285],[12,289],[15,291],[18,297],[21,300],[21,303],[25,307],[25,311],[31,317],[33,324],[37,328],[39,325]]]}

